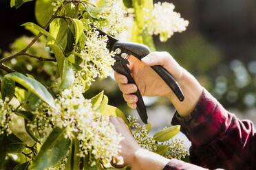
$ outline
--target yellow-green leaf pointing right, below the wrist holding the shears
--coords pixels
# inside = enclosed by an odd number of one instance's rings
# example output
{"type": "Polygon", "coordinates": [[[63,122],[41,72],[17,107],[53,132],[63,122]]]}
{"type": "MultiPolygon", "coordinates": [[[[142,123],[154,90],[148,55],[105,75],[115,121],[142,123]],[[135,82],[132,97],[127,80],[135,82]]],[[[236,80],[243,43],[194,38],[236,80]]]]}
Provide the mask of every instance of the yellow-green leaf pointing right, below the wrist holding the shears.
{"type": "Polygon", "coordinates": [[[156,134],[153,135],[153,139],[158,142],[168,141],[170,138],[178,134],[178,132],[180,132],[180,125],[174,125],[156,132],[156,134]]]}

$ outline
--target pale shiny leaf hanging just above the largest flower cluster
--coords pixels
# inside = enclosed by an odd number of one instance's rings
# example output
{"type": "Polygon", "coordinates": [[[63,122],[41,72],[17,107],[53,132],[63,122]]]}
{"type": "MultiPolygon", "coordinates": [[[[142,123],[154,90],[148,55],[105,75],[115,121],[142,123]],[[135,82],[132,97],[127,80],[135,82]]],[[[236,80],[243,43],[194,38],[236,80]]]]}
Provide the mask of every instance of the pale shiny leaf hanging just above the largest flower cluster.
{"type": "Polygon", "coordinates": [[[74,83],[74,71],[72,69],[72,65],[68,61],[67,58],[64,60],[64,68],[61,76],[61,85],[60,88],[65,89],[70,87],[74,83]]]}

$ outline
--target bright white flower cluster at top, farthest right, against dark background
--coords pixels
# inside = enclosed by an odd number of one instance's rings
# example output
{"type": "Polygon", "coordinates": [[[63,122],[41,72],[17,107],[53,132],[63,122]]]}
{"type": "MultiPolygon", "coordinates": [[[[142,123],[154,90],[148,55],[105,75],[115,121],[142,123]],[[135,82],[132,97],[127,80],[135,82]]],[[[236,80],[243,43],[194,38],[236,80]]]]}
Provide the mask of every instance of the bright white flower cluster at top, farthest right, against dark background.
{"type": "Polygon", "coordinates": [[[174,32],[183,32],[189,25],[189,21],[181,18],[180,13],[174,12],[173,3],[155,3],[153,11],[146,19],[147,32],[151,35],[160,34],[160,40],[166,41],[174,32]]]}

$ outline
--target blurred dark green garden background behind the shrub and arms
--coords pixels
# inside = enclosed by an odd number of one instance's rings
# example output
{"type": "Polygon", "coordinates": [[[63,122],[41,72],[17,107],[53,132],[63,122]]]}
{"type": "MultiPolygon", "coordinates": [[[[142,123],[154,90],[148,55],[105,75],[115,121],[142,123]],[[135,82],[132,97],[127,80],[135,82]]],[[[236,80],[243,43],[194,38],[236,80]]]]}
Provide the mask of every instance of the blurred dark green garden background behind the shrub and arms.
{"type": "MultiPolygon", "coordinates": [[[[189,27],[186,32],[176,33],[164,43],[154,36],[156,49],[169,51],[225,108],[236,112],[238,117],[256,122],[256,1],[169,2],[175,5],[176,12],[180,12],[190,22],[189,27]]],[[[22,49],[33,36],[19,25],[28,21],[36,23],[34,1],[15,10],[10,8],[10,1],[2,0],[0,13],[0,53],[1,56],[9,56],[22,49]]],[[[38,42],[29,53],[47,57],[47,50],[38,42]]],[[[49,86],[54,80],[53,62],[21,56],[6,64],[21,73],[34,75],[45,85],[49,86]]],[[[1,76],[5,73],[0,71],[1,76]]],[[[105,90],[110,104],[118,106],[127,114],[131,112],[111,78],[95,82],[85,96],[92,97],[100,90],[105,90]]],[[[168,111],[172,110],[172,106],[167,99],[160,97],[145,100],[150,105],[149,110],[164,112],[156,109],[163,106],[167,107],[167,112],[173,112],[168,111]]]]}

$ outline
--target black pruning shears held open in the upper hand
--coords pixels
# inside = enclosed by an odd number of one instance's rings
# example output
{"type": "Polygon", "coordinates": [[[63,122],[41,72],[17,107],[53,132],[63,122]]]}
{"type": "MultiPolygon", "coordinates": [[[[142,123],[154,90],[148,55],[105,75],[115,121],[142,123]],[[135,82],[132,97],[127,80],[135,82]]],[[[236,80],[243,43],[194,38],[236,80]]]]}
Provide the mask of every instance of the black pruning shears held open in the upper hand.
{"type": "MultiPolygon", "coordinates": [[[[133,56],[136,57],[138,60],[141,60],[150,53],[149,47],[136,42],[122,42],[116,40],[116,38],[112,36],[109,36],[100,29],[96,30],[99,32],[99,35],[107,36],[107,49],[109,49],[109,51],[116,52],[116,54],[114,55],[114,59],[116,60],[116,62],[114,63],[114,66],[112,66],[114,71],[125,75],[128,79],[128,84],[136,84],[134,78],[131,76],[131,70],[127,66],[127,64],[129,65],[128,58],[130,56],[133,56]]],[[[173,93],[176,95],[176,97],[178,97],[180,101],[183,101],[184,95],[182,89],[180,88],[178,82],[176,82],[176,80],[173,78],[173,76],[160,65],[151,66],[151,68],[156,71],[156,73],[158,73],[158,75],[162,78],[162,80],[164,80],[164,82],[167,83],[171,90],[173,90],[173,93]]],[[[140,119],[143,121],[143,123],[147,124],[147,110],[142,99],[142,95],[140,94],[140,90],[137,90],[136,93],[133,93],[133,95],[136,95],[138,97],[138,101],[136,104],[140,119]]]]}

